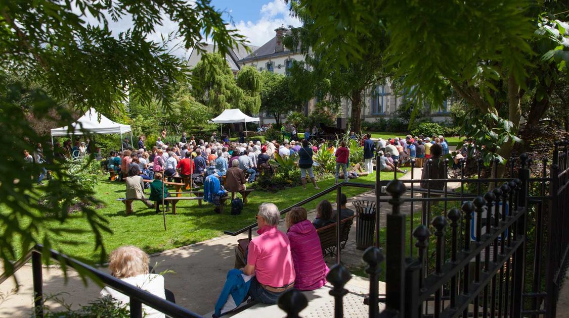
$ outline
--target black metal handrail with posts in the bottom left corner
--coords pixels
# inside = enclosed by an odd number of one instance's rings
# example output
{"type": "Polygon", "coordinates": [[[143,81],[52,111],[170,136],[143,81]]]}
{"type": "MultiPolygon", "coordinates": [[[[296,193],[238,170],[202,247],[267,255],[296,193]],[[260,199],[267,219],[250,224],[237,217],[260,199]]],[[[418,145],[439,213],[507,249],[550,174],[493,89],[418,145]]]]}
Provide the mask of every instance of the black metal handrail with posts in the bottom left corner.
{"type": "MultiPolygon", "coordinates": [[[[34,275],[34,298],[35,298],[35,314],[36,317],[43,317],[43,275],[42,275],[42,253],[45,252],[44,246],[42,244],[36,244],[26,256],[20,258],[15,262],[14,274],[18,269],[20,269],[24,263],[32,260],[32,273],[34,275]]],[[[100,279],[102,283],[106,286],[113,288],[122,294],[130,296],[130,316],[131,317],[142,317],[142,304],[146,304],[159,312],[166,314],[167,316],[176,318],[203,318],[203,316],[198,315],[195,312],[189,311],[175,303],[169,302],[166,299],[160,298],[156,295],[150,294],[141,288],[134,285],[121,281],[112,275],[104,273],[101,270],[94,268],[93,266],[87,265],[81,261],[77,261],[65,254],[59,253],[56,250],[48,249],[48,256],[53,260],[63,263],[65,266],[71,267],[79,272],[89,272],[97,279],[100,279]]],[[[5,281],[11,275],[3,273],[0,276],[0,283],[5,281]]]]}

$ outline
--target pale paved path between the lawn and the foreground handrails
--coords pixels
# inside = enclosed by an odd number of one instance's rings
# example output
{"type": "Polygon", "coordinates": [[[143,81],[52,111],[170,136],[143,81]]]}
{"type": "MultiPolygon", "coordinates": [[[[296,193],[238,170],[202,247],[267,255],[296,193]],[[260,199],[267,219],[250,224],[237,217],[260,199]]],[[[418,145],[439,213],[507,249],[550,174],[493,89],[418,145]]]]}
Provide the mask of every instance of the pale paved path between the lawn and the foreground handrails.
{"type": "MultiPolygon", "coordinates": [[[[415,171],[415,175],[420,175],[415,171]]],[[[410,173],[403,178],[410,178],[410,173]]],[[[349,198],[348,207],[356,199],[373,199],[373,192],[368,192],[349,198]]],[[[353,208],[353,207],[352,207],[353,208]]],[[[385,208],[389,208],[386,204],[385,208]]],[[[381,208],[384,211],[384,207],[381,208]]],[[[382,215],[384,224],[385,214],[382,215]]],[[[314,219],[315,212],[310,211],[309,219],[314,219]]],[[[355,248],[356,225],[354,223],[350,232],[350,239],[346,249],[342,252],[343,262],[349,267],[362,266],[362,251],[355,248]]],[[[284,222],[279,228],[284,229],[284,222]]],[[[256,233],[255,233],[256,235],[256,233]]],[[[189,308],[200,314],[211,312],[217,296],[221,291],[222,284],[228,269],[233,267],[234,246],[238,239],[245,238],[246,235],[221,236],[212,240],[184,246],[178,249],[167,250],[154,254],[150,258],[151,265],[158,263],[156,271],[173,270],[175,274],[166,274],[166,288],[172,290],[176,296],[176,303],[185,308],[189,308]]],[[[332,265],[335,260],[327,258],[327,262],[332,265]]],[[[106,269],[102,269],[106,270],[106,269]]],[[[65,299],[66,304],[74,307],[79,304],[85,305],[90,300],[97,298],[101,287],[89,282],[84,286],[79,276],[72,270],[69,271],[68,282],[64,282],[63,273],[59,267],[44,269],[44,293],[47,295],[60,295],[65,299]]],[[[9,279],[0,285],[0,292],[8,295],[3,300],[0,297],[0,317],[22,317],[30,316],[32,308],[32,275],[31,266],[26,265],[20,269],[16,275],[20,284],[18,294],[11,294],[15,284],[13,279],[9,279]]],[[[0,294],[1,296],[2,294],[0,294]]],[[[63,308],[60,304],[50,300],[48,306],[54,309],[63,308]]]]}

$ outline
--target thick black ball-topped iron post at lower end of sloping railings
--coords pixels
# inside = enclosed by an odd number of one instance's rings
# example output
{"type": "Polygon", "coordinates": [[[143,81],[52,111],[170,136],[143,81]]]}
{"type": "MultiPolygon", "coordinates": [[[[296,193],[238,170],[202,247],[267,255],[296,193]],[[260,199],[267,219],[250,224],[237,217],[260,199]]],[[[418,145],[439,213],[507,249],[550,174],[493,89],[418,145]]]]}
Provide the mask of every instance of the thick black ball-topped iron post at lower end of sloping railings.
{"type": "Polygon", "coordinates": [[[393,180],[387,185],[391,194],[389,203],[393,212],[387,215],[386,229],[386,306],[389,310],[398,311],[400,317],[405,316],[405,215],[399,213],[403,203],[401,196],[406,187],[401,181],[393,180]]]}

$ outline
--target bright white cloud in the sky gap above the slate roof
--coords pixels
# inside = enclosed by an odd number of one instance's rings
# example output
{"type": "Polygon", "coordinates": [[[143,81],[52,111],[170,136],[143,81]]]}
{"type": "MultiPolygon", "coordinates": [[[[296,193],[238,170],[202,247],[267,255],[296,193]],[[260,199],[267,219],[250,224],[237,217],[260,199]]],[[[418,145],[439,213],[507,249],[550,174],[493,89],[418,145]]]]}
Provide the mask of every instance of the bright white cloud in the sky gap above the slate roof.
{"type": "Polygon", "coordinates": [[[251,44],[261,46],[275,36],[275,29],[281,26],[299,27],[300,20],[290,16],[288,6],[283,0],[274,0],[261,7],[261,18],[257,21],[241,20],[234,28],[244,35],[251,44]]]}

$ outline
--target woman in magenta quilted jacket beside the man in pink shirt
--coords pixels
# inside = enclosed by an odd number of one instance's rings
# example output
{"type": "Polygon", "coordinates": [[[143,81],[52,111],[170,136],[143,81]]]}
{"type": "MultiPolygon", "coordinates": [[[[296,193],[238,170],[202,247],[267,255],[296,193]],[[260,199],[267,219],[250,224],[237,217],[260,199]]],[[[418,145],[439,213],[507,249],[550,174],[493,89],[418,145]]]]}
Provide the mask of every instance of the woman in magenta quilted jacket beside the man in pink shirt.
{"type": "Polygon", "coordinates": [[[316,228],[307,220],[303,207],[295,207],[286,215],[287,236],[298,290],[315,290],[326,283],[328,266],[324,262],[316,228]]]}

